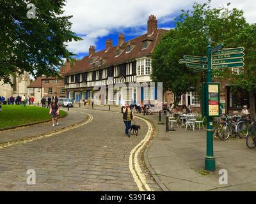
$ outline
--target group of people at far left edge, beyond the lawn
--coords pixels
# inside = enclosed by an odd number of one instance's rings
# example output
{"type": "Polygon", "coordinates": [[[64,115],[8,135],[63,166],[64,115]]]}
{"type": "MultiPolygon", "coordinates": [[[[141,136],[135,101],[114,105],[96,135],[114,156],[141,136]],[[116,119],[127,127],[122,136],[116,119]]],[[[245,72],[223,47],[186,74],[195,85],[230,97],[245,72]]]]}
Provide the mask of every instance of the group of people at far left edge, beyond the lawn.
{"type": "Polygon", "coordinates": [[[4,101],[6,101],[6,105],[22,105],[22,106],[26,106],[27,103],[29,103],[29,105],[33,105],[35,98],[33,96],[29,96],[28,98],[23,95],[23,96],[9,96],[7,99],[4,98],[4,96],[0,96],[0,103],[3,105],[4,101]]]}

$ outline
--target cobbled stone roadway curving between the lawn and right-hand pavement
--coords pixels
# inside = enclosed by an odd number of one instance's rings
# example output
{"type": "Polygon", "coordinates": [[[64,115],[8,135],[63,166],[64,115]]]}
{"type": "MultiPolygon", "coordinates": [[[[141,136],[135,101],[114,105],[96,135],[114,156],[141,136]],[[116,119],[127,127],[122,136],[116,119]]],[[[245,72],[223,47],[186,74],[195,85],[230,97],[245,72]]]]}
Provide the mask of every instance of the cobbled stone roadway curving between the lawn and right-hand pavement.
{"type": "MultiPolygon", "coordinates": [[[[1,191],[138,191],[129,156],[147,128],[127,138],[121,114],[73,110],[90,113],[93,120],[60,135],[0,149],[1,191]],[[26,183],[29,169],[36,172],[32,186],[26,183]]],[[[143,120],[137,123],[147,127],[143,120]]],[[[150,175],[145,177],[152,190],[161,190],[150,175]]]]}

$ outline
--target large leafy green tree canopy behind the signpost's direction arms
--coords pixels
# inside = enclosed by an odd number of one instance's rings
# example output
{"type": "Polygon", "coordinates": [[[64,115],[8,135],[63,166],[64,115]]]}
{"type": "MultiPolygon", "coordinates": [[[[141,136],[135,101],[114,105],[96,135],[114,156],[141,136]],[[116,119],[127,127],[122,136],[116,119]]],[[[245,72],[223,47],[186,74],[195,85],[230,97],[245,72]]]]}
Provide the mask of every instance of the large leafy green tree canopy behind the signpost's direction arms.
{"type": "MultiPolygon", "coordinates": [[[[255,41],[253,40],[255,25],[246,23],[243,11],[236,8],[228,12],[226,19],[220,18],[224,8],[211,8],[210,4],[211,1],[204,4],[195,3],[193,11],[181,11],[175,20],[177,25],[175,29],[167,33],[154,50],[152,78],[155,81],[163,82],[165,90],[171,89],[175,95],[181,94],[178,90],[187,92],[191,90],[191,86],[199,87],[200,82],[205,80],[205,74],[193,74],[178,61],[185,54],[206,55],[205,39],[207,36],[211,36],[214,40],[212,46],[224,43],[227,48],[245,47],[244,73],[236,75],[230,69],[223,69],[214,71],[214,75],[219,77],[215,80],[230,79],[231,85],[239,85],[244,91],[250,91],[250,104],[251,107],[254,107],[252,95],[256,83],[255,41]],[[196,85],[195,82],[197,82],[196,85]]],[[[177,104],[177,102],[175,103],[177,104]]]]}

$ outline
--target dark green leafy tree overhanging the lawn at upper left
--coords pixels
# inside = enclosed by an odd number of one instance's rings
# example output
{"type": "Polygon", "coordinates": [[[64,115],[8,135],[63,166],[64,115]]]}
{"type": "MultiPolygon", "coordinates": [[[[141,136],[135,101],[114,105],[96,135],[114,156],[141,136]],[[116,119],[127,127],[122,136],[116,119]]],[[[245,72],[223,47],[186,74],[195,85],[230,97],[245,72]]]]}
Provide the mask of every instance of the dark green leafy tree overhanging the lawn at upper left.
{"type": "Polygon", "coordinates": [[[68,52],[67,43],[81,40],[70,31],[72,16],[63,15],[66,0],[35,0],[36,18],[27,17],[22,0],[1,0],[0,80],[10,83],[10,75],[28,71],[33,77],[56,75],[68,52]]]}

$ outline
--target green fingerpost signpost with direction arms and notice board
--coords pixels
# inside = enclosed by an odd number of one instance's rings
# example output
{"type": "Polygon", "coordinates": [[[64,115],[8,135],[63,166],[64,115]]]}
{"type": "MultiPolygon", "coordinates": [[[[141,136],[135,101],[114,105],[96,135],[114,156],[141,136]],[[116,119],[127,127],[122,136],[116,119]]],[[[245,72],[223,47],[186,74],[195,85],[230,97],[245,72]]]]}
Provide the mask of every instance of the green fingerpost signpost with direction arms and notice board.
{"type": "Polygon", "coordinates": [[[220,117],[220,83],[212,82],[212,69],[242,68],[244,66],[244,48],[224,48],[220,44],[211,47],[211,38],[208,38],[206,57],[184,55],[180,64],[193,68],[194,73],[206,71],[207,81],[202,84],[202,115],[207,117],[205,170],[215,171],[215,157],[213,152],[212,121],[220,117]]]}

